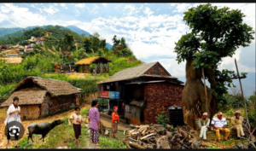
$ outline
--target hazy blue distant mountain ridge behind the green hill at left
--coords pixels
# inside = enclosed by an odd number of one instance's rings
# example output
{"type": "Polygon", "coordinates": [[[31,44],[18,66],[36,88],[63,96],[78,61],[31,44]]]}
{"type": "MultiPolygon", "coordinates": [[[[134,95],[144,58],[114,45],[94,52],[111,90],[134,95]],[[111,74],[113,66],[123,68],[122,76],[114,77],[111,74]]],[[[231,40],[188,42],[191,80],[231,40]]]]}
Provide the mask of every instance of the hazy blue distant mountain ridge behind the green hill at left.
{"type": "MultiPolygon", "coordinates": [[[[3,36],[9,36],[9,37],[20,37],[22,35],[22,30],[29,30],[29,29],[33,29],[33,28],[36,28],[36,27],[40,27],[40,28],[49,28],[49,27],[52,27],[51,25],[48,25],[48,26],[27,26],[26,28],[20,28],[20,27],[15,27],[15,28],[1,28],[0,27],[0,37],[3,37],[3,36]]],[[[61,26],[61,28],[67,28],[73,32],[77,32],[79,35],[83,34],[85,36],[90,36],[90,33],[89,32],[86,32],[82,29],[80,29],[79,27],[77,26],[61,26]]],[[[106,47],[108,49],[111,49],[112,48],[112,45],[111,44],[108,44],[106,43],[106,47]]]]}

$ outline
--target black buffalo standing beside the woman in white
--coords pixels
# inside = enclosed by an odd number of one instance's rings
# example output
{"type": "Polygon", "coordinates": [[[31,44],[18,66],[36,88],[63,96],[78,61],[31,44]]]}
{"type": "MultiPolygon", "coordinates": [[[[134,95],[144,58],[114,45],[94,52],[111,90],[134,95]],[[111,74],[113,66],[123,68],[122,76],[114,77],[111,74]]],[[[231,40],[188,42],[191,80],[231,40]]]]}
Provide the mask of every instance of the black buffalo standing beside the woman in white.
{"type": "MultiPolygon", "coordinates": [[[[64,120],[61,119],[56,119],[52,123],[41,123],[41,124],[36,124],[32,123],[27,127],[28,130],[28,137],[27,137],[27,143],[29,143],[29,138],[32,140],[32,135],[33,134],[41,134],[44,142],[44,137],[51,131],[53,128],[55,128],[56,125],[61,125],[64,122],[64,120]]],[[[42,139],[40,138],[39,141],[42,139]]],[[[33,142],[33,140],[32,140],[33,142]]]]}

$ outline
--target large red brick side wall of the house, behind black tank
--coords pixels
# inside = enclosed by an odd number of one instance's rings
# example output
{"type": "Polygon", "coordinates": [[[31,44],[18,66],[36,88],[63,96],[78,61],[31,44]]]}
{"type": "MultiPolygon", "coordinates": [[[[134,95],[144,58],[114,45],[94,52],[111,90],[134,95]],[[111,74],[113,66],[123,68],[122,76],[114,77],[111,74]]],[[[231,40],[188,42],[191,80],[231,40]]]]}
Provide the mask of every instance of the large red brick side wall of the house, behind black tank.
{"type": "Polygon", "coordinates": [[[182,106],[183,85],[177,84],[147,84],[144,89],[145,124],[156,124],[155,116],[165,111],[174,104],[182,106]]]}

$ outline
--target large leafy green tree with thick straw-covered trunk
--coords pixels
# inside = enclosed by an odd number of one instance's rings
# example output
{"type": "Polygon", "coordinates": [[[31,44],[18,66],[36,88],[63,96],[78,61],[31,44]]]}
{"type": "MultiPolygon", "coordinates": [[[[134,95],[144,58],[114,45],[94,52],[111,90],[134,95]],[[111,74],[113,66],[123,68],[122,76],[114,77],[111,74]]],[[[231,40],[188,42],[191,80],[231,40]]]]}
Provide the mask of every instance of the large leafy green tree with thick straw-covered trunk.
{"type": "MultiPolygon", "coordinates": [[[[247,47],[253,38],[253,28],[242,22],[241,10],[227,7],[218,9],[211,4],[199,5],[183,13],[183,20],[191,32],[178,40],[174,52],[177,61],[186,61],[186,84],[183,88],[184,120],[192,127],[195,118],[207,112],[216,113],[218,103],[224,100],[227,86],[237,75],[227,69],[219,70],[224,57],[232,57],[240,46],[247,47]],[[202,68],[210,83],[205,95],[202,68]]],[[[247,73],[242,73],[246,78],[247,73]]]]}

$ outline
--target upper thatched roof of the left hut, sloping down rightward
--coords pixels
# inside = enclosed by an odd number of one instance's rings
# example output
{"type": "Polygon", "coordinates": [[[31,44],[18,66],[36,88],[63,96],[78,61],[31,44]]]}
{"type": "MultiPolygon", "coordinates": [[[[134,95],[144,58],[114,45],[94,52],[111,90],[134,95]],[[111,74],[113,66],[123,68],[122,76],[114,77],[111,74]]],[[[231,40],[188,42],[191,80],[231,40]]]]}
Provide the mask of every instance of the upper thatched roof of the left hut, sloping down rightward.
{"type": "Polygon", "coordinates": [[[32,87],[32,85],[35,85],[43,90],[47,90],[47,92],[49,92],[50,96],[52,97],[68,96],[81,93],[78,88],[74,87],[72,84],[69,84],[66,81],[32,76],[24,78],[23,81],[21,81],[20,84],[16,86],[12,93],[17,90],[32,87]]]}

